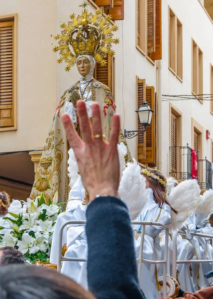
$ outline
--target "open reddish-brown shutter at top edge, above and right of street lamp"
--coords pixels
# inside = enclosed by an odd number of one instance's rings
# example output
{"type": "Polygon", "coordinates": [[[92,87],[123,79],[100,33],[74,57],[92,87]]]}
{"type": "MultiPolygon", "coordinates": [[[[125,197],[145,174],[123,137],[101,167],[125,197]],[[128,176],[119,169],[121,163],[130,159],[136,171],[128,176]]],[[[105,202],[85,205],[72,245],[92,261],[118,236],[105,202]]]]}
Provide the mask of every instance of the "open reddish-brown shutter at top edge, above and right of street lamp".
{"type": "Polygon", "coordinates": [[[148,56],[152,60],[162,59],[162,0],[155,0],[155,51],[148,56]]]}

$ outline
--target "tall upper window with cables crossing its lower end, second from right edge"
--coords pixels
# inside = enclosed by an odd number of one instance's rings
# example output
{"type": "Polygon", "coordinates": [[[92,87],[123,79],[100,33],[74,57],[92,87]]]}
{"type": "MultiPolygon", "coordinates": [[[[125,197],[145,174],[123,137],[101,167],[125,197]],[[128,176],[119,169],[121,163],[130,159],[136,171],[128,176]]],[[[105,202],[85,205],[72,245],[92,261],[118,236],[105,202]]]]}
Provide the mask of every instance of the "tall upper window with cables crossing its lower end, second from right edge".
{"type": "Polygon", "coordinates": [[[203,52],[192,40],[192,93],[203,104],[203,52]]]}

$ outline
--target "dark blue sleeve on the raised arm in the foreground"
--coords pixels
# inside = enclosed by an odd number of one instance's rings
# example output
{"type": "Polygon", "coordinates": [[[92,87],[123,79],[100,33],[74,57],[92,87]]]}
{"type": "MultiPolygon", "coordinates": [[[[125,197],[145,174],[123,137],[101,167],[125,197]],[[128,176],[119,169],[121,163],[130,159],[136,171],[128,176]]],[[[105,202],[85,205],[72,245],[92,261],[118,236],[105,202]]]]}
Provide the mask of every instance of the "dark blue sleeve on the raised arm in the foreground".
{"type": "Polygon", "coordinates": [[[139,289],[127,206],[96,198],[87,209],[88,284],[97,299],[144,299],[139,289]]]}

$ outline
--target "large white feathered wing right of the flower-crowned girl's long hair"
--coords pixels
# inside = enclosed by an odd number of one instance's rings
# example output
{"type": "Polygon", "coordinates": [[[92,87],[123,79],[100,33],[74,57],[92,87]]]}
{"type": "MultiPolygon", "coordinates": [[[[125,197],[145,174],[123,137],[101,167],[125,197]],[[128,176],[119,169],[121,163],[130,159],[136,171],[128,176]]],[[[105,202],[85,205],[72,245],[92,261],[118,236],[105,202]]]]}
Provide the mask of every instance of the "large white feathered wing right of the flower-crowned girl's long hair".
{"type": "Polygon", "coordinates": [[[200,187],[196,179],[185,180],[177,185],[167,197],[167,201],[178,214],[172,211],[171,230],[181,229],[186,219],[200,203],[200,187]]]}

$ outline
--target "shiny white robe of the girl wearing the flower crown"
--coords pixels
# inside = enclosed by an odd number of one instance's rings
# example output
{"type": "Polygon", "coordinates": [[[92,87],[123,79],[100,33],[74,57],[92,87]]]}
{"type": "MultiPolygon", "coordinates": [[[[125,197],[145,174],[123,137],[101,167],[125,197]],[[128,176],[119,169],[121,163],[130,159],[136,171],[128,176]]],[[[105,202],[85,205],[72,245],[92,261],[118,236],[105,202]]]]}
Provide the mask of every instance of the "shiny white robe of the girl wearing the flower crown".
{"type": "MultiPolygon", "coordinates": [[[[164,203],[160,208],[159,205],[155,202],[152,189],[148,188],[149,196],[148,201],[146,202],[141,215],[136,219],[136,221],[149,221],[149,222],[159,222],[163,225],[168,225],[172,221],[171,216],[171,207],[164,203]]],[[[134,240],[135,245],[135,253],[136,258],[139,257],[140,250],[140,242],[141,242],[141,231],[142,227],[140,225],[135,225],[135,237],[137,234],[139,237],[134,240]]],[[[160,238],[159,234],[162,232],[163,227],[149,225],[146,226],[145,229],[145,237],[144,237],[144,247],[142,258],[146,260],[161,260],[161,248],[160,248],[160,238]]],[[[155,265],[150,264],[142,264],[141,266],[141,275],[140,275],[140,288],[143,290],[147,299],[158,298],[158,291],[155,285],[155,289],[153,288],[153,278],[155,277],[157,267],[155,265]],[[150,276],[152,277],[152,282],[148,284],[147,280],[145,280],[145,276],[147,275],[146,269],[149,270],[150,276]],[[152,285],[151,285],[152,284],[152,285]]],[[[158,274],[157,274],[158,276],[158,274]]]]}

